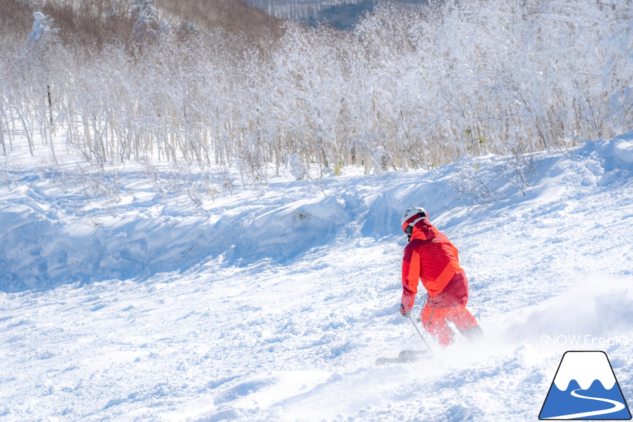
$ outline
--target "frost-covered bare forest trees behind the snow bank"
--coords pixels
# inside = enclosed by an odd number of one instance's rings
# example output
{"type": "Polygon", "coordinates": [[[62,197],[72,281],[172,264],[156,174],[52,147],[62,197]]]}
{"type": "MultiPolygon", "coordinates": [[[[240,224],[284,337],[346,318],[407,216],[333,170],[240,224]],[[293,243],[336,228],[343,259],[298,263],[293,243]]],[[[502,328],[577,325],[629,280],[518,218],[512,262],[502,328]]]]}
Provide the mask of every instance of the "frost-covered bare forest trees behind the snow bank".
{"type": "Polygon", "coordinates": [[[44,13],[30,34],[3,25],[3,154],[39,134],[96,165],[211,163],[258,187],[289,163],[298,177],[430,169],[565,149],[633,119],[627,1],[382,6],[347,32],[268,22],[256,36],[113,4],[65,13],[120,32],[125,18],[125,37],[65,34],[44,13]]]}

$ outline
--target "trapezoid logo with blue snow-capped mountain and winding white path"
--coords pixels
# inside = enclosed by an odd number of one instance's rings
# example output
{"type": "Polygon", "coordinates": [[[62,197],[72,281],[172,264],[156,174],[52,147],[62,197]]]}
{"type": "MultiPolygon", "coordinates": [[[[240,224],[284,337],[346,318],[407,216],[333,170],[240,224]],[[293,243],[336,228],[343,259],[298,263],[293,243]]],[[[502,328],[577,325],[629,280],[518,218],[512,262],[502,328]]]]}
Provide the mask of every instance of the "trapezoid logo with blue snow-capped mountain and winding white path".
{"type": "Polygon", "coordinates": [[[606,353],[565,352],[539,419],[631,419],[606,353]]]}

